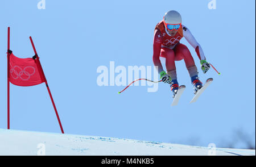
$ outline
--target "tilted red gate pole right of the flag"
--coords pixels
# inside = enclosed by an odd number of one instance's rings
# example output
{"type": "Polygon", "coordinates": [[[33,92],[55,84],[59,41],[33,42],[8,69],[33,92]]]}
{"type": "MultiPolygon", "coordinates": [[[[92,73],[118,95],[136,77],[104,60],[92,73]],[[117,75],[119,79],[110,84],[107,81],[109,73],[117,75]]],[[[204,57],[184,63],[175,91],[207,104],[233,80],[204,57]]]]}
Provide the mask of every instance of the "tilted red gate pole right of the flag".
{"type": "Polygon", "coordinates": [[[34,43],[33,43],[33,40],[32,40],[32,37],[31,37],[31,36],[30,36],[30,41],[31,41],[32,47],[33,47],[33,49],[34,49],[35,56],[36,56],[36,59],[37,59],[37,61],[38,61],[39,68],[40,68],[40,70],[41,70],[41,72],[42,72],[43,80],[46,82],[46,87],[47,87],[49,96],[50,96],[50,98],[51,98],[52,105],[53,105],[53,108],[54,108],[54,110],[55,110],[55,114],[56,114],[56,116],[57,116],[57,120],[58,120],[59,125],[60,125],[61,133],[64,133],[62,124],[61,124],[61,122],[60,122],[60,117],[59,117],[59,114],[58,114],[58,112],[57,112],[57,108],[56,108],[55,103],[54,103],[54,101],[53,101],[51,91],[49,90],[49,86],[48,86],[48,83],[47,83],[47,80],[46,80],[46,76],[44,76],[44,71],[43,71],[42,65],[41,65],[41,63],[40,63],[40,60],[39,60],[39,57],[38,57],[38,53],[36,52],[35,45],[34,45],[34,43]]]}

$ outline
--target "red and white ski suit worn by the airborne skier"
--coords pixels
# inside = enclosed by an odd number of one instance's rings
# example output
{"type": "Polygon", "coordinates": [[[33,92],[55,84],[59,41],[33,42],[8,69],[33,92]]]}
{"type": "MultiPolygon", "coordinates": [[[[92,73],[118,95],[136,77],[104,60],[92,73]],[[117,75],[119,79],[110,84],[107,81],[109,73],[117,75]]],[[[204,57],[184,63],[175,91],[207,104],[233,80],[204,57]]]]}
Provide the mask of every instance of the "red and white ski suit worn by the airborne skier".
{"type": "Polygon", "coordinates": [[[155,66],[158,66],[158,72],[160,73],[163,71],[163,66],[159,57],[166,58],[167,74],[172,78],[172,80],[177,79],[175,61],[183,59],[188,69],[189,76],[193,77],[198,74],[189,49],[184,44],[180,43],[180,39],[182,37],[185,37],[188,43],[195,48],[199,59],[205,60],[203,49],[200,44],[197,43],[195,37],[193,37],[188,28],[184,25],[182,25],[182,27],[177,31],[175,36],[171,36],[168,33],[163,21],[158,23],[155,27],[153,62],[155,66]]]}

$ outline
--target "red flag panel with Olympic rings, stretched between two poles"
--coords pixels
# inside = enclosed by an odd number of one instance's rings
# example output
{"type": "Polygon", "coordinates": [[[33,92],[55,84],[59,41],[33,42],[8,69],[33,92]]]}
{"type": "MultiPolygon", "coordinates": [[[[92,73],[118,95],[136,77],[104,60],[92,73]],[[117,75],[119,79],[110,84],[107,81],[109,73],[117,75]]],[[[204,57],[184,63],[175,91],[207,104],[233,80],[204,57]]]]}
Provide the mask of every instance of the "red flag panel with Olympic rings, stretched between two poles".
{"type": "Polygon", "coordinates": [[[34,86],[46,82],[36,59],[20,59],[11,53],[9,72],[9,81],[17,86],[34,86]]]}

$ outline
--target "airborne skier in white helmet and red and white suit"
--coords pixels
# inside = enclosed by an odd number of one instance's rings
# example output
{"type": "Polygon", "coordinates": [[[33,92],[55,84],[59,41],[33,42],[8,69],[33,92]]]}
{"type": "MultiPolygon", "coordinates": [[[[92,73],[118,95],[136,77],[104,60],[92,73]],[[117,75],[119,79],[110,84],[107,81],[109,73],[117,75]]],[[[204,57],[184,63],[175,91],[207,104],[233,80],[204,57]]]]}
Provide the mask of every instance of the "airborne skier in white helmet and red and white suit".
{"type": "Polygon", "coordinates": [[[171,85],[171,90],[174,93],[173,97],[175,97],[179,89],[175,61],[184,59],[189,76],[191,77],[194,93],[203,86],[199,80],[197,68],[189,49],[179,42],[182,37],[185,37],[188,43],[195,48],[203,73],[206,73],[210,68],[200,44],[197,43],[189,29],[181,24],[179,12],[174,10],[166,12],[163,20],[155,27],[153,62],[155,66],[158,66],[158,73],[162,81],[171,85]],[[163,70],[159,57],[166,58],[167,73],[163,70]]]}

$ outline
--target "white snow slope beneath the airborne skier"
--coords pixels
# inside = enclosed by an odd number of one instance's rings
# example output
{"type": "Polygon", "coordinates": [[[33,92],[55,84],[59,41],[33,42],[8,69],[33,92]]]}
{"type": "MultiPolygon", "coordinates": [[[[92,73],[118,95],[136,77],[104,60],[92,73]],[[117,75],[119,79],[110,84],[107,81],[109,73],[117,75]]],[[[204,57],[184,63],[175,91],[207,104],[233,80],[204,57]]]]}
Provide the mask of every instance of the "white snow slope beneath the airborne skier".
{"type": "MultiPolygon", "coordinates": [[[[0,155],[208,155],[207,147],[0,129],[0,155]]],[[[216,155],[254,155],[255,150],[216,148],[216,155]]]]}

